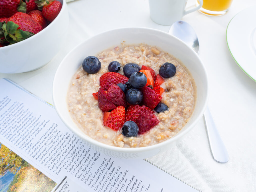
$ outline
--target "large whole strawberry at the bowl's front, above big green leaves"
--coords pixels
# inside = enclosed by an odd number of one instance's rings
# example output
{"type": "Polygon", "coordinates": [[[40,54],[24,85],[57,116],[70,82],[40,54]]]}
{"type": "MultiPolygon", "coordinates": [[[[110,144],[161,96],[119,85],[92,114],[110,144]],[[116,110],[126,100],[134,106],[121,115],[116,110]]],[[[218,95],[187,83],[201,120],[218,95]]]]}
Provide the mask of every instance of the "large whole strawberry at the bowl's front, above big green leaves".
{"type": "Polygon", "coordinates": [[[19,26],[18,29],[29,31],[34,34],[37,34],[43,29],[42,26],[34,18],[22,12],[15,13],[8,19],[8,22],[9,21],[16,23],[19,26]]]}

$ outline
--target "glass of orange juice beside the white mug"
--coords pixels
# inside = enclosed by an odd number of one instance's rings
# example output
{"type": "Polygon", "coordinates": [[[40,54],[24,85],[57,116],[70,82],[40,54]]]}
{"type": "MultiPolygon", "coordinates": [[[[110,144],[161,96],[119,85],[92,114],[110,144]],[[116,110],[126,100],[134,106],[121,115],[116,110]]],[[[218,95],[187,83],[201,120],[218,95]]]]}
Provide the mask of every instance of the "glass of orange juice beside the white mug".
{"type": "Polygon", "coordinates": [[[220,16],[227,13],[231,3],[232,0],[204,0],[199,11],[206,15],[220,16]]]}

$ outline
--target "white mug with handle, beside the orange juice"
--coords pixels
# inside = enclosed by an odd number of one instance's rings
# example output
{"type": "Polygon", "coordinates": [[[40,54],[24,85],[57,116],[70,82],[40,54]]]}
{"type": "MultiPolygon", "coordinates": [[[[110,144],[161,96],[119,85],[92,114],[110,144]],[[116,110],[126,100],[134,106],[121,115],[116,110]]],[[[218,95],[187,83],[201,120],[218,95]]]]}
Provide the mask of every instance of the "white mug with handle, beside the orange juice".
{"type": "Polygon", "coordinates": [[[157,24],[172,25],[184,15],[200,9],[203,1],[198,1],[197,7],[186,11],[187,0],[149,0],[150,17],[157,24]]]}

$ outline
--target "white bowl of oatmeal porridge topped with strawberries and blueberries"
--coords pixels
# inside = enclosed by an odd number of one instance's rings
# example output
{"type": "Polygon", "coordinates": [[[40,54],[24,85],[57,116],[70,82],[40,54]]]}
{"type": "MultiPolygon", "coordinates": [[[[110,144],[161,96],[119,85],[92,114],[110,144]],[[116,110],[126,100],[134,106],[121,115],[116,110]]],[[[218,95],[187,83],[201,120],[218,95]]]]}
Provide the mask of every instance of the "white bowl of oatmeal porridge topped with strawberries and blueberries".
{"type": "Polygon", "coordinates": [[[91,37],[71,50],[56,71],[52,97],[63,123],[94,150],[119,158],[146,158],[174,146],[195,126],[208,101],[208,80],[198,55],[178,38],[156,29],[121,28],[91,37]],[[100,62],[98,72],[83,69],[88,56],[100,62]],[[119,71],[110,72],[112,61],[120,64],[119,71]],[[131,85],[125,82],[132,80],[124,69],[127,63],[136,64],[139,72],[134,73],[147,77],[146,85],[137,88],[142,101],[128,100],[131,85]],[[171,77],[161,77],[159,69],[166,63],[175,66],[171,77]],[[122,99],[126,96],[122,104],[116,101],[119,93],[104,98],[121,90],[118,83],[128,88],[120,91],[122,99]],[[160,112],[159,102],[167,107],[160,112]],[[137,129],[132,135],[124,125],[129,120],[135,122],[129,126],[137,129]]]}

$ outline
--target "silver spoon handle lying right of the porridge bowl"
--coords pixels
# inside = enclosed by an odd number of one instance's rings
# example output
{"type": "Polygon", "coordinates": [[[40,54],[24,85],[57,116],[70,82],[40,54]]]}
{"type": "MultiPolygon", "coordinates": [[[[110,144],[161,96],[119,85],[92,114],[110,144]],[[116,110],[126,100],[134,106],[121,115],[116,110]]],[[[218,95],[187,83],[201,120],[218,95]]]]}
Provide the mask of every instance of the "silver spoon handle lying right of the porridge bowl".
{"type": "Polygon", "coordinates": [[[211,155],[218,163],[226,163],[229,160],[228,150],[220,137],[208,106],[204,114],[204,119],[211,155]]]}

